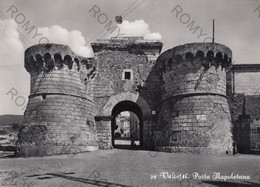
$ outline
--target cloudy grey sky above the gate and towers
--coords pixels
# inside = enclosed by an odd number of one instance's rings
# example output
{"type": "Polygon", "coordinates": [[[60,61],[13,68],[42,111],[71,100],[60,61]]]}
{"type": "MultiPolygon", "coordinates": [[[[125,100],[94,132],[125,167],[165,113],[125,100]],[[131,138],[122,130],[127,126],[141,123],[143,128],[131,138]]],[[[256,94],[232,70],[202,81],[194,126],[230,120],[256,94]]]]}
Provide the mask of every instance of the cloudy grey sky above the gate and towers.
{"type": "Polygon", "coordinates": [[[0,115],[24,113],[31,45],[59,43],[92,57],[97,39],[143,36],[163,42],[164,52],[211,42],[213,19],[215,42],[232,50],[234,64],[260,63],[259,0],[0,0],[0,115]],[[122,24],[114,23],[119,15],[122,24]]]}

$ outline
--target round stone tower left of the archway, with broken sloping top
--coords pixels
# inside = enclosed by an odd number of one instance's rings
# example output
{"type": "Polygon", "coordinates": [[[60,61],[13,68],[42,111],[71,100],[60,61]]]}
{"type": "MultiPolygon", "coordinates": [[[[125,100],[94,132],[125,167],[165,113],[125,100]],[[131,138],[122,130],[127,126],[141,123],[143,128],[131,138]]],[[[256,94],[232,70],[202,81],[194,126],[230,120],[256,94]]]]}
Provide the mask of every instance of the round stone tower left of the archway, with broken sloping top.
{"type": "Polygon", "coordinates": [[[88,83],[95,65],[68,46],[40,44],[25,51],[31,75],[29,102],[18,135],[17,156],[96,150],[94,103],[88,83]]]}

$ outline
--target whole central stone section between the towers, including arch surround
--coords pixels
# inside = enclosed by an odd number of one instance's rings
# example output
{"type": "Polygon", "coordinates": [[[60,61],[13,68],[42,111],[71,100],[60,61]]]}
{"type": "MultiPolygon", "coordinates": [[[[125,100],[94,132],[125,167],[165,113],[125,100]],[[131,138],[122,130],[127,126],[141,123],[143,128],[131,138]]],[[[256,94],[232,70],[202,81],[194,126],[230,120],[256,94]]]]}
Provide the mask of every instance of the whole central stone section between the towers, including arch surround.
{"type": "MultiPolygon", "coordinates": [[[[148,131],[151,131],[150,125],[155,124],[150,122],[151,110],[160,101],[162,86],[154,65],[162,43],[145,41],[138,37],[126,37],[98,40],[91,45],[97,64],[96,77],[91,83],[97,116],[111,116],[114,107],[121,102],[135,103],[142,111],[139,117],[142,118],[140,120],[144,125],[144,128],[141,128],[143,146],[151,147],[151,132],[148,131]],[[125,72],[130,73],[129,79],[125,79],[125,72]]],[[[121,110],[131,111],[133,108],[125,106],[121,110]]],[[[108,122],[98,123],[103,128],[108,128],[105,125],[113,125],[108,122]]]]}

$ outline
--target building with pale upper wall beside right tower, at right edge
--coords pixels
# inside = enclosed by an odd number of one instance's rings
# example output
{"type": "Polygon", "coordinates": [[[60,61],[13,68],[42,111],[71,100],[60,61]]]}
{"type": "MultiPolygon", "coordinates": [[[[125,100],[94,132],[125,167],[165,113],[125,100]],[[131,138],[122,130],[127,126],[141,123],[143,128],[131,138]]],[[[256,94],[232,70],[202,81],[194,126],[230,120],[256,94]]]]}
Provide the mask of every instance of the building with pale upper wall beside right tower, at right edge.
{"type": "Polygon", "coordinates": [[[235,64],[227,73],[227,96],[238,152],[260,152],[260,64],[235,64]]]}

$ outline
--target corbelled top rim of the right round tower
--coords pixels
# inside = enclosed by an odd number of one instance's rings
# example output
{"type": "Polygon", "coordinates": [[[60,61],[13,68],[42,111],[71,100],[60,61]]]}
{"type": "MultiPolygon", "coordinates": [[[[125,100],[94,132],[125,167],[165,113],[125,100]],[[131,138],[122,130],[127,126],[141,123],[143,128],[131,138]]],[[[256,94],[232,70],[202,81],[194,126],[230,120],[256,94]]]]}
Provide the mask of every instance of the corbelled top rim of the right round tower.
{"type": "Polygon", "coordinates": [[[202,65],[206,69],[212,66],[226,69],[232,64],[232,51],[218,43],[189,43],[167,50],[158,61],[162,62],[162,72],[185,67],[187,62],[192,62],[194,66],[202,65]]]}

